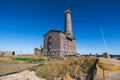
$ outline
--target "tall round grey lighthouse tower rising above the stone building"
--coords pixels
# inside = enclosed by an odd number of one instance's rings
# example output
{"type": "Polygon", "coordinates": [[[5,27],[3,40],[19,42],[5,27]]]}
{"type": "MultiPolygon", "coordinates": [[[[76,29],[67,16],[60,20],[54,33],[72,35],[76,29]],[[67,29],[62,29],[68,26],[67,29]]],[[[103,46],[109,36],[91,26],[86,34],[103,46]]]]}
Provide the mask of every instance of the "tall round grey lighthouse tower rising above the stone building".
{"type": "Polygon", "coordinates": [[[72,21],[71,21],[71,11],[69,9],[65,10],[65,33],[66,35],[73,36],[72,34],[72,21]]]}

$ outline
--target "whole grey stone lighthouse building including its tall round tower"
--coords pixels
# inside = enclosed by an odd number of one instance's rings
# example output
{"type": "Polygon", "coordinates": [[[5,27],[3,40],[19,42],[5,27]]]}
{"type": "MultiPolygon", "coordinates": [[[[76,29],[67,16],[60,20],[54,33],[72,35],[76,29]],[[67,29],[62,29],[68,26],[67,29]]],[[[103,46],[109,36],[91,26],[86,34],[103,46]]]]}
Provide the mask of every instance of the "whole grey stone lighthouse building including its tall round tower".
{"type": "Polygon", "coordinates": [[[45,56],[76,55],[76,41],[72,34],[71,12],[65,10],[65,31],[50,30],[44,35],[43,54],[45,56]]]}

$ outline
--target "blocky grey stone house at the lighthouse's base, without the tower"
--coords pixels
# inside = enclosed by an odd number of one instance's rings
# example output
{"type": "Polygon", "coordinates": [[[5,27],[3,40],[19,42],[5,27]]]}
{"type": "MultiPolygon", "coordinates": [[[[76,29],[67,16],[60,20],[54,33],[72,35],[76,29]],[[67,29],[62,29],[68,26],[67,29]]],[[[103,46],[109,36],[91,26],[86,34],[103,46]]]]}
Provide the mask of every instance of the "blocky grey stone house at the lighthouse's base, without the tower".
{"type": "Polygon", "coordinates": [[[59,31],[50,31],[44,37],[43,54],[46,56],[66,56],[75,55],[75,40],[68,39],[66,35],[59,31]]]}

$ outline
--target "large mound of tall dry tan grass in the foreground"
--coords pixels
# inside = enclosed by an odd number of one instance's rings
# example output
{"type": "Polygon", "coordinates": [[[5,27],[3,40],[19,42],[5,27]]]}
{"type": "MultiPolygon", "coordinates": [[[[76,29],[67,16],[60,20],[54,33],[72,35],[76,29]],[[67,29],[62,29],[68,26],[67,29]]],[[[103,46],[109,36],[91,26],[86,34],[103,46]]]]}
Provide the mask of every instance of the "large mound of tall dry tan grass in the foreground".
{"type": "Polygon", "coordinates": [[[95,58],[92,57],[70,58],[52,64],[34,66],[30,68],[30,70],[35,71],[36,75],[39,77],[47,80],[54,80],[54,78],[64,77],[66,73],[70,76],[86,73],[87,70],[94,64],[94,61],[95,58]]]}

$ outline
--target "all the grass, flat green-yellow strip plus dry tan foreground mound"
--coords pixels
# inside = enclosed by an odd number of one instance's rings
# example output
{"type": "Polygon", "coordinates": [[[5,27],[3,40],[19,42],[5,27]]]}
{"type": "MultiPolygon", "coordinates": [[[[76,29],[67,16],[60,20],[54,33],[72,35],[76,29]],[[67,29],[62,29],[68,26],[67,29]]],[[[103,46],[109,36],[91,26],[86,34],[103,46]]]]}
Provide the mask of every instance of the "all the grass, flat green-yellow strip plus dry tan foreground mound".
{"type": "MultiPolygon", "coordinates": [[[[0,57],[0,63],[20,64],[20,63],[39,63],[38,66],[31,67],[30,70],[36,75],[47,80],[54,80],[65,77],[66,74],[76,77],[76,74],[85,74],[93,66],[96,58],[79,57],[61,60],[59,58],[39,58],[36,56],[0,57]]],[[[77,77],[80,77],[78,75],[77,77]]]]}

